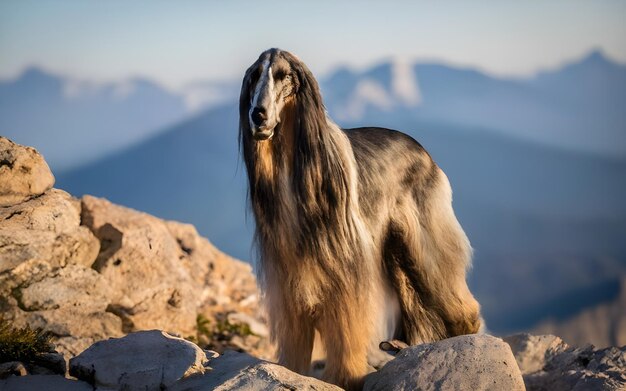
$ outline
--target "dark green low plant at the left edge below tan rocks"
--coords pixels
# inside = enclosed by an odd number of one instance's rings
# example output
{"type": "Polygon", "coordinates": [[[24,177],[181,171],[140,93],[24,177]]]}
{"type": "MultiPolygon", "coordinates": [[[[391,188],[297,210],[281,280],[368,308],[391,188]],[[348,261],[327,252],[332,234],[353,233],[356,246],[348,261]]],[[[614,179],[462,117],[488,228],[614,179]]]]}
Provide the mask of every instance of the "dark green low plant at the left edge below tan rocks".
{"type": "Polygon", "coordinates": [[[52,335],[29,326],[21,329],[11,326],[8,320],[0,319],[0,362],[30,362],[42,353],[54,349],[52,335]]]}

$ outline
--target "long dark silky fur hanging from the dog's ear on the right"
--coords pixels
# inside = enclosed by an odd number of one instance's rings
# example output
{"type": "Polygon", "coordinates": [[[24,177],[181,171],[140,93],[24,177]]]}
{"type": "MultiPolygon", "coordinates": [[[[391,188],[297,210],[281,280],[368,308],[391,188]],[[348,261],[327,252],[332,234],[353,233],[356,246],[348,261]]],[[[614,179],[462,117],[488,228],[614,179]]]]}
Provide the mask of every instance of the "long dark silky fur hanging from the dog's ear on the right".
{"type": "Polygon", "coordinates": [[[339,140],[343,135],[329,122],[311,71],[295,57],[290,62],[298,87],[293,186],[301,219],[308,222],[300,231],[302,254],[298,255],[349,259],[355,254],[346,253],[346,243],[354,243],[355,238],[350,229],[349,162],[339,140]]]}

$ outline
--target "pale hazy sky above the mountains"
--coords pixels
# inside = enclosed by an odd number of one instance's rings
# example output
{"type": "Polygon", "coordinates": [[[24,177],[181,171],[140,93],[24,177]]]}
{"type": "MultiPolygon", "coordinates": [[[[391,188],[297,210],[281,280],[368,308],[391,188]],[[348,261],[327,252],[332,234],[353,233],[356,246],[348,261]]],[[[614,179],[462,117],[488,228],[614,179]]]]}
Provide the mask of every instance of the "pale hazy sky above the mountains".
{"type": "Polygon", "coordinates": [[[25,67],[178,89],[235,79],[269,47],[314,73],[434,60],[528,76],[592,49],[626,63],[624,1],[0,1],[0,79],[25,67]]]}

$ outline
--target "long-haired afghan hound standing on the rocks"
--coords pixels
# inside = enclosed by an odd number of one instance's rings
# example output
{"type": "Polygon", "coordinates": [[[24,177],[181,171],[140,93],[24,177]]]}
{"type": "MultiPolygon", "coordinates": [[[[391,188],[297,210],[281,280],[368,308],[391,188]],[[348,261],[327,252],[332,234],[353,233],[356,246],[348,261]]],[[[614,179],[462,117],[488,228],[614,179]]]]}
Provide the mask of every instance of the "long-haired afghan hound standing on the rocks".
{"type": "Polygon", "coordinates": [[[256,221],[258,275],[278,362],[355,389],[381,341],[476,333],[469,241],[443,171],[413,138],[340,129],[296,56],[270,49],[246,71],[239,140],[256,221]]]}

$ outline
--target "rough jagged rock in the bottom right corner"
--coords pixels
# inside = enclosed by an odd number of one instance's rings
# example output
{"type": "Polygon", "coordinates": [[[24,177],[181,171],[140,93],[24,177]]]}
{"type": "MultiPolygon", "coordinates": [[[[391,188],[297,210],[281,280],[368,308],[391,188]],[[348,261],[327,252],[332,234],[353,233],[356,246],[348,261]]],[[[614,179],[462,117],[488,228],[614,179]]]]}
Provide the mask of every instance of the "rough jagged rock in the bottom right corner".
{"type": "Polygon", "coordinates": [[[626,389],[626,346],[570,347],[553,335],[517,334],[505,339],[519,363],[526,389],[626,389]]]}

